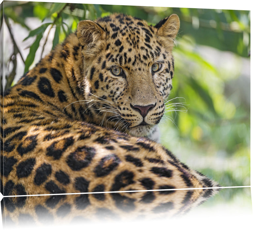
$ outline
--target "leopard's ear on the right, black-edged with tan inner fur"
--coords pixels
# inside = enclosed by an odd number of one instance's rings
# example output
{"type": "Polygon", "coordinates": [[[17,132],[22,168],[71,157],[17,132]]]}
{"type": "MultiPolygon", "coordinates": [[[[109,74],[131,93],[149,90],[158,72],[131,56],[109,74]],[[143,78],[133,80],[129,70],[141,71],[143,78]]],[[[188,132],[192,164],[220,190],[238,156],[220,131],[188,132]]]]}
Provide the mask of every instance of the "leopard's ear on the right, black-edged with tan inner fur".
{"type": "Polygon", "coordinates": [[[178,31],[179,31],[179,17],[177,14],[172,14],[169,17],[161,20],[155,25],[157,28],[158,36],[165,36],[171,38],[174,41],[178,31]]]}

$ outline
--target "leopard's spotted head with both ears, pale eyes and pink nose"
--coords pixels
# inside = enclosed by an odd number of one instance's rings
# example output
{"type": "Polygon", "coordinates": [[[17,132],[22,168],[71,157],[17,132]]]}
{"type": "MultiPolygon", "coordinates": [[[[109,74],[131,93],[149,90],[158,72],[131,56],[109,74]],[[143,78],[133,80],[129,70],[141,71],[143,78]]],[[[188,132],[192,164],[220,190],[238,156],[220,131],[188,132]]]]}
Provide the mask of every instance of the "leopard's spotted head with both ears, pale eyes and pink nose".
{"type": "Polygon", "coordinates": [[[97,124],[150,136],[172,89],[177,15],[155,27],[126,15],[81,21],[83,94],[97,124]]]}

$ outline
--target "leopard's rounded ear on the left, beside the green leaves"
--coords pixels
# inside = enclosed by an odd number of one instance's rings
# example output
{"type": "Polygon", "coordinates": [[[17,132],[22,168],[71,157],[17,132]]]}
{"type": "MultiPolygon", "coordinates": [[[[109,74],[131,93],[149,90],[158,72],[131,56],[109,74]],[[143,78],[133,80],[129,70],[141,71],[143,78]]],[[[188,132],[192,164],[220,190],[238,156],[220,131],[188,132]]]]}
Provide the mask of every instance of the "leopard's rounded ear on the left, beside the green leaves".
{"type": "Polygon", "coordinates": [[[107,33],[96,22],[83,20],[78,23],[77,37],[81,45],[87,49],[97,46],[100,40],[106,39],[107,33]]]}

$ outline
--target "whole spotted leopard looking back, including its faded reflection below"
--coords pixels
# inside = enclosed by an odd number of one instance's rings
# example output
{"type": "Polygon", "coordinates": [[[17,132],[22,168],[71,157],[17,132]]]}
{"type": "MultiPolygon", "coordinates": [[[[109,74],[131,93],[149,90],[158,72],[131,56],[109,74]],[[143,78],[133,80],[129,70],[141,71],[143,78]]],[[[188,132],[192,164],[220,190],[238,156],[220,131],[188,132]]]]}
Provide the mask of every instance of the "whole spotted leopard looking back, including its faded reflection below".
{"type": "Polygon", "coordinates": [[[218,193],[157,141],[179,26],[176,14],[82,20],[5,90],[3,221],[179,216],[218,193]]]}

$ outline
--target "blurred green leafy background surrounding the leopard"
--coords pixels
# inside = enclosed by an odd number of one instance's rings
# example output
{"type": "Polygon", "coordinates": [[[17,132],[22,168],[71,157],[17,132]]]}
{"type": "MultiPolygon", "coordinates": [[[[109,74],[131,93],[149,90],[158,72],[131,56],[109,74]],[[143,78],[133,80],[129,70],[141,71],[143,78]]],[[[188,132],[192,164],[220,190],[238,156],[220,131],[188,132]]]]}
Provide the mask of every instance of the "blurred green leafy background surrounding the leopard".
{"type": "MultiPolygon", "coordinates": [[[[4,1],[1,91],[75,32],[80,20],[112,12],[153,25],[178,14],[175,75],[160,123],[161,143],[222,186],[249,186],[250,11],[4,1]]],[[[250,189],[225,189],[204,205],[216,201],[250,208],[250,189]]]]}

